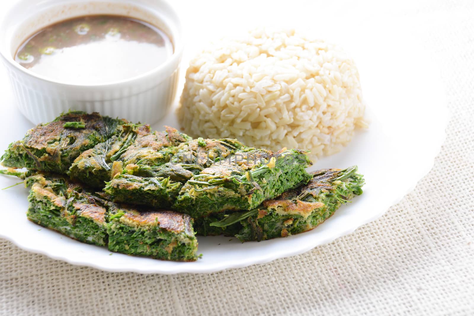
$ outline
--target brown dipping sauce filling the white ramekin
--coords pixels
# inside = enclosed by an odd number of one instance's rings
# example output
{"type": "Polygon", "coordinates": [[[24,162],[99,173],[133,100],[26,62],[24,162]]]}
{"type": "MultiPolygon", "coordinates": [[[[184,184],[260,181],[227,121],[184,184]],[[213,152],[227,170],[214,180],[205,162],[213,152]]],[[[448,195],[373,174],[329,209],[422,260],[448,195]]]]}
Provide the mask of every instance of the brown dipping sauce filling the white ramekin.
{"type": "Polygon", "coordinates": [[[172,54],[173,44],[157,27],[107,15],[46,27],[18,48],[15,61],[53,80],[99,84],[145,73],[172,54]]]}

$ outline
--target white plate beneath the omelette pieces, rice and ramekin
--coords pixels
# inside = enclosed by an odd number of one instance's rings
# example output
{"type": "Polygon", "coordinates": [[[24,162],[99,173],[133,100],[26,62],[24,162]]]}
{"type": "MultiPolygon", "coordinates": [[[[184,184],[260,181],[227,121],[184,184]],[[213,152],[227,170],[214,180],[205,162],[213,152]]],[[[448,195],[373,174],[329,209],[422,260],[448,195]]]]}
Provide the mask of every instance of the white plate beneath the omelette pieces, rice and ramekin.
{"type": "MultiPolygon", "coordinates": [[[[411,47],[410,51],[395,51],[390,46],[383,48],[380,43],[353,45],[351,53],[361,73],[371,126],[358,133],[341,153],[320,160],[311,169],[357,164],[359,172],[365,175],[365,192],[310,232],[244,244],[237,238],[199,237],[199,253],[203,256],[197,262],[109,255],[106,248],[82,244],[29,222],[25,216],[27,190],[18,185],[0,190],[0,236],[28,251],[101,270],[178,273],[212,272],[270,262],[349,234],[380,217],[416,185],[431,169],[445,137],[448,113],[436,67],[425,54],[416,53],[411,47]]],[[[1,74],[0,87],[9,86],[4,77],[1,74]]],[[[3,150],[32,126],[13,107],[9,91],[3,88],[2,104],[0,148],[3,150]]],[[[161,123],[178,126],[173,114],[161,123]]],[[[18,181],[0,177],[0,188],[15,182],[18,181]]]]}

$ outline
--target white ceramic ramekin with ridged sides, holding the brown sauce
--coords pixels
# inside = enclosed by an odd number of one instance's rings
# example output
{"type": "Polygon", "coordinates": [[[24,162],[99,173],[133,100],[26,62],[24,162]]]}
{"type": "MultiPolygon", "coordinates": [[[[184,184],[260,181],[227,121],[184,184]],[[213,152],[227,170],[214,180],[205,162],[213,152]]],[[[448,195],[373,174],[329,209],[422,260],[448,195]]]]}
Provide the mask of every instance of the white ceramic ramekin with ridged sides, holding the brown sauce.
{"type": "Polygon", "coordinates": [[[0,54],[18,108],[35,124],[51,121],[69,109],[155,123],[168,112],[176,95],[182,41],[178,15],[163,0],[19,0],[4,12],[0,22],[0,54]],[[64,19],[91,14],[123,15],[155,25],[170,37],[174,53],[144,74],[94,85],[51,80],[15,62],[18,46],[34,32],[64,19]]]}

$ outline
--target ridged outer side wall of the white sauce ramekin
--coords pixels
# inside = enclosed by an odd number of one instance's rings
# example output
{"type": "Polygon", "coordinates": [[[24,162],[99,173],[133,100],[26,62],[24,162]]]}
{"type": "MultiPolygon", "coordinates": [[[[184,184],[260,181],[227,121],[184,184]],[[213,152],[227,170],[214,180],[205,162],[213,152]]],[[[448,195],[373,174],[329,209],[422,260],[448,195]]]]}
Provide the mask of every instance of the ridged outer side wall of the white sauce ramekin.
{"type": "MultiPolygon", "coordinates": [[[[32,123],[48,122],[69,110],[99,112],[131,122],[153,124],[164,117],[176,96],[179,70],[168,78],[156,78],[157,84],[144,85],[132,81],[127,86],[107,90],[86,90],[81,87],[61,87],[54,82],[31,80],[10,69],[8,75],[20,112],[32,123]]],[[[156,81],[155,81],[156,82],[156,81]]]]}

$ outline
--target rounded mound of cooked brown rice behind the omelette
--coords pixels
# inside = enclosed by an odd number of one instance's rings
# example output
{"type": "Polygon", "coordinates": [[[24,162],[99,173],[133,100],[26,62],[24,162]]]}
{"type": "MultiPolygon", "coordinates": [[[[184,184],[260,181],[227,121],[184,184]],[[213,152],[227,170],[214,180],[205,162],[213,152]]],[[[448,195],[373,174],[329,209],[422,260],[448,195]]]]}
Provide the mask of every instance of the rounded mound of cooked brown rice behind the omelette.
{"type": "Polygon", "coordinates": [[[338,152],[365,127],[355,63],[295,31],[255,30],[191,60],[178,109],[185,133],[254,147],[338,152]]]}

